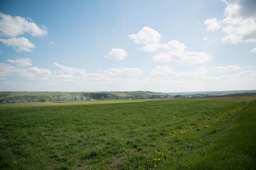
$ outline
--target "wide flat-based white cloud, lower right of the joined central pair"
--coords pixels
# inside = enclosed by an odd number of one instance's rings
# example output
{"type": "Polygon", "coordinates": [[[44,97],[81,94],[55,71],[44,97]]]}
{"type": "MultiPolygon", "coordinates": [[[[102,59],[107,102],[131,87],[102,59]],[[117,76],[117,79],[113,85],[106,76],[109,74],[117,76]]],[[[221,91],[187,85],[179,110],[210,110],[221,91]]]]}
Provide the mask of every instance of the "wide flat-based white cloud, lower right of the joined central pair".
{"type": "Polygon", "coordinates": [[[186,46],[177,40],[169,41],[162,46],[165,52],[153,56],[154,61],[176,61],[178,64],[200,64],[211,60],[204,52],[185,51],[186,46]]]}

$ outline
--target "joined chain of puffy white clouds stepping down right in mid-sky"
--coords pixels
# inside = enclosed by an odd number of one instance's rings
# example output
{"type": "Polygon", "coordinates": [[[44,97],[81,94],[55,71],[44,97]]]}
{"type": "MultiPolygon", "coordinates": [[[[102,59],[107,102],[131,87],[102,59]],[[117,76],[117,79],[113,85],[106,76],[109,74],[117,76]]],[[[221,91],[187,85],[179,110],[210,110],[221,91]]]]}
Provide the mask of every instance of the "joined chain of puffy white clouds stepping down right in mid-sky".
{"type": "Polygon", "coordinates": [[[204,52],[186,51],[184,44],[177,40],[169,41],[167,44],[159,44],[161,34],[157,31],[144,27],[137,35],[128,35],[134,39],[136,44],[146,44],[139,48],[142,51],[155,52],[158,49],[164,50],[153,56],[153,61],[176,61],[179,64],[200,64],[211,60],[211,57],[204,52]]]}

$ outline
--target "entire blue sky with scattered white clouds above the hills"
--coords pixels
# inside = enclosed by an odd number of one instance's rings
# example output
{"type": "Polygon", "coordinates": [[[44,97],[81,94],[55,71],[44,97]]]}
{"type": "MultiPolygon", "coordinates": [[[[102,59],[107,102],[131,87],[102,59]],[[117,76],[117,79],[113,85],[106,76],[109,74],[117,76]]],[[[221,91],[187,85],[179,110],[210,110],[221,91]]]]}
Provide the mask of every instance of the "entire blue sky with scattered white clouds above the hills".
{"type": "Polygon", "coordinates": [[[0,1],[0,91],[256,89],[255,0],[0,1]]]}

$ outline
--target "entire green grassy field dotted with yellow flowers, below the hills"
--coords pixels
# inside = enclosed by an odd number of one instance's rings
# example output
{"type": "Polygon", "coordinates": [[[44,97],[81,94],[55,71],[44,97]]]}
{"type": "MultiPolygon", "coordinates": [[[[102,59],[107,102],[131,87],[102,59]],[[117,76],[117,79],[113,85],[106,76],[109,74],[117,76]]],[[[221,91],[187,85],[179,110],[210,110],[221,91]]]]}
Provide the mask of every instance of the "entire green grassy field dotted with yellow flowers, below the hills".
{"type": "Polygon", "coordinates": [[[0,169],[256,169],[255,96],[0,105],[0,169]]]}

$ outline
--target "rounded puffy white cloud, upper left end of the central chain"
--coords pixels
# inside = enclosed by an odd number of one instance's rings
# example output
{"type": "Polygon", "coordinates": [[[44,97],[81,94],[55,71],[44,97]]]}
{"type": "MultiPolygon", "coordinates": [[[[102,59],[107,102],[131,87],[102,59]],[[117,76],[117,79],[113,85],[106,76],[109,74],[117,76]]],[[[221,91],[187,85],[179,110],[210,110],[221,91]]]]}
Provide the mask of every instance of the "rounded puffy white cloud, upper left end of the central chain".
{"type": "Polygon", "coordinates": [[[161,34],[149,27],[143,27],[137,34],[127,35],[136,44],[158,44],[161,34]]]}

